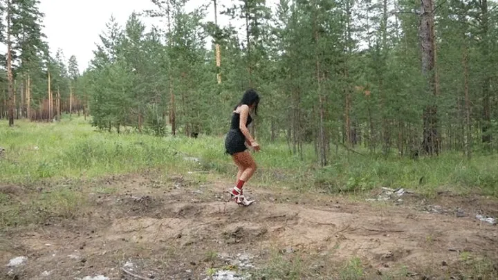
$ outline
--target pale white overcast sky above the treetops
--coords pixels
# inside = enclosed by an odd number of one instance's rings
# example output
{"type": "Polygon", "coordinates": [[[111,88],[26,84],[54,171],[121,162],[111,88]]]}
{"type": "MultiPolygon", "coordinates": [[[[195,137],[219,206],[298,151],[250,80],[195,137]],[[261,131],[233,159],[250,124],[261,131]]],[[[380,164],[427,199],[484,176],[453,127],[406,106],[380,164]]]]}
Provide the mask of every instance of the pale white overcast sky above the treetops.
{"type": "MultiPolygon", "coordinates": [[[[208,0],[190,0],[191,3],[200,3],[208,0]]],[[[275,3],[277,0],[267,0],[275,3]]],[[[212,1],[210,1],[212,2],[212,1]]],[[[221,5],[230,5],[230,0],[218,0],[218,11],[221,5]]],[[[95,43],[100,43],[98,35],[102,33],[105,24],[116,17],[120,25],[124,25],[133,11],[142,12],[154,8],[150,0],[42,0],[40,11],[45,14],[44,32],[50,46],[50,52],[55,54],[61,48],[66,59],[75,55],[84,71],[93,58],[92,50],[95,43]]],[[[188,9],[190,10],[190,9],[188,9]]],[[[207,18],[214,21],[214,9],[208,9],[207,18]]],[[[144,20],[146,24],[160,24],[157,20],[144,20]]],[[[218,16],[221,26],[228,24],[228,18],[218,16]]]]}

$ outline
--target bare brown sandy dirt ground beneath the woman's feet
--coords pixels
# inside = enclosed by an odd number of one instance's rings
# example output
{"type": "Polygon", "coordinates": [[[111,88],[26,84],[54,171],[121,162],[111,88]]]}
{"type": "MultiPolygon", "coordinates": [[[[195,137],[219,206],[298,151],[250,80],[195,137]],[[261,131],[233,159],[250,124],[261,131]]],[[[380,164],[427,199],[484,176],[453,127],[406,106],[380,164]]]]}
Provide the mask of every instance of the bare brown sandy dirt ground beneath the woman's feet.
{"type": "Polygon", "coordinates": [[[360,260],[364,276],[404,267],[410,275],[438,277],[462,273],[462,261],[472,258],[498,261],[498,227],[474,217],[496,213],[496,200],[413,198],[404,205],[371,204],[249,185],[246,194],[257,202],[239,207],[226,203],[230,183],[195,182],[150,172],[82,185],[77,189],[90,201],[89,214],[1,232],[0,262],[15,256],[27,260],[16,268],[3,265],[0,275],[132,279],[122,271],[131,263],[127,271],[154,279],[205,279],[215,269],[241,269],[241,263],[257,274],[263,268],[281,269],[276,259],[282,264],[299,258],[311,274],[294,279],[356,273],[352,259],[360,260]],[[459,207],[468,215],[427,211],[424,205],[459,207]],[[250,265],[232,254],[250,255],[250,265]]]}

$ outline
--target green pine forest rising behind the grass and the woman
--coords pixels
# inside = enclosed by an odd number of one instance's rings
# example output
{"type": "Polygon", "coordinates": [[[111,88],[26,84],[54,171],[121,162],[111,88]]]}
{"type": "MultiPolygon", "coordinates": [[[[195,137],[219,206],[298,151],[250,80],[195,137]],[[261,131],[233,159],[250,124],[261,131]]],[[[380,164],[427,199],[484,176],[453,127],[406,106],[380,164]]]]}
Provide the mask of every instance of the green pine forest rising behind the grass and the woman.
{"type": "Polygon", "coordinates": [[[48,55],[35,2],[25,2],[4,8],[0,115],[10,123],[91,112],[109,131],[221,135],[228,115],[219,112],[256,88],[253,133],[297,154],[313,143],[322,166],[334,145],[412,157],[498,150],[494,1],[218,7],[245,21],[241,31],[205,20],[208,3],[185,12],[186,1],[153,1],[141,15],[165,26],[146,32],[137,14],[124,26],[111,18],[81,75],[74,56],[48,55]]]}

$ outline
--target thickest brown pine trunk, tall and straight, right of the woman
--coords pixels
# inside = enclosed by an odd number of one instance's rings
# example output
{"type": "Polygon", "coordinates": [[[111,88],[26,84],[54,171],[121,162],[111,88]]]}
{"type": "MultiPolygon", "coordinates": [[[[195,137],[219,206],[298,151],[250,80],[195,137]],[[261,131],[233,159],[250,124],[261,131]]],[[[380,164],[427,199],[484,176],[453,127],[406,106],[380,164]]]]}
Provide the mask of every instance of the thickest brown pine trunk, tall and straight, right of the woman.
{"type": "MultiPolygon", "coordinates": [[[[434,4],[432,0],[421,0],[421,21],[419,36],[422,50],[422,73],[427,80],[427,93],[436,95],[435,77],[435,45],[434,45],[434,4]]],[[[430,98],[432,100],[432,98],[430,98]]],[[[423,110],[423,149],[425,153],[439,154],[439,142],[437,133],[438,117],[437,104],[427,104],[423,110]]]]}

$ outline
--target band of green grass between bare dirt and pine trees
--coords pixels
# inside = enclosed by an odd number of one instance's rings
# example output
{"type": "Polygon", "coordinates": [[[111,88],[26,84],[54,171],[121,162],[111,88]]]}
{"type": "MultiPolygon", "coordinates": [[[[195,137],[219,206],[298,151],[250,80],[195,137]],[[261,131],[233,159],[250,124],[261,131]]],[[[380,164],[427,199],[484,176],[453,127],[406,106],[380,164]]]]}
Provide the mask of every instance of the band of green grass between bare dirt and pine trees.
{"type": "MultiPolygon", "coordinates": [[[[292,156],[285,143],[261,143],[255,153],[259,170],[254,183],[302,189],[325,189],[330,193],[359,194],[376,187],[406,187],[423,194],[452,190],[498,197],[498,155],[476,155],[468,161],[459,153],[439,158],[361,156],[339,150],[323,169],[315,165],[313,147],[305,147],[304,160],[292,156]]],[[[95,131],[82,118],[59,123],[19,120],[8,128],[0,122],[0,183],[33,183],[44,178],[95,178],[126,174],[145,168],[189,171],[192,158],[208,171],[232,175],[230,156],[223,153],[223,139],[156,138],[137,133],[95,131]]]]}

